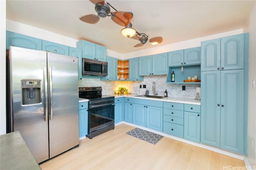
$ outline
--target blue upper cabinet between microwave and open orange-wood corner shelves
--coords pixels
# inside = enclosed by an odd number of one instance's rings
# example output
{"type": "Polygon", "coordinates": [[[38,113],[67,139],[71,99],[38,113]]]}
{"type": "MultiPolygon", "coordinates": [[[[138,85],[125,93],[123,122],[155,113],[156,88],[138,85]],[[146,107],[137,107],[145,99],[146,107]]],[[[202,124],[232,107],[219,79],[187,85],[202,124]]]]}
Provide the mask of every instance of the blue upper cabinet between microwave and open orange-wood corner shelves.
{"type": "Polygon", "coordinates": [[[114,57],[107,56],[107,62],[108,62],[108,75],[101,77],[100,80],[102,81],[114,81],[117,78],[117,59],[114,57]]]}

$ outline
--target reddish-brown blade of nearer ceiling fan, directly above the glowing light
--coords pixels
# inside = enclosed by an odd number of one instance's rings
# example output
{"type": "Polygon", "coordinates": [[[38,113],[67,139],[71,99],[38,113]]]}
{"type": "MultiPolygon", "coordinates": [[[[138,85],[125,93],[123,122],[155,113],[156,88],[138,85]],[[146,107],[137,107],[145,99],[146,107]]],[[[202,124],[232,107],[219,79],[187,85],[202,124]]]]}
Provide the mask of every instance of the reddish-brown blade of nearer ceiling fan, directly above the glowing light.
{"type": "Polygon", "coordinates": [[[112,13],[111,20],[125,27],[132,21],[132,17],[132,12],[116,11],[112,13]]]}

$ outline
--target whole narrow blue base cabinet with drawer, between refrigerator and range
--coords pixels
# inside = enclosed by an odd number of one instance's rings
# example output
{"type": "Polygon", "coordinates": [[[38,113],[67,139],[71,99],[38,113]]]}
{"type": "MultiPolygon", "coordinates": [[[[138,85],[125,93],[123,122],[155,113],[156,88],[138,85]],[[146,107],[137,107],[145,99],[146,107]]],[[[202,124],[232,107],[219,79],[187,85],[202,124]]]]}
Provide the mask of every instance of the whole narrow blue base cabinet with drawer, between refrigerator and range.
{"type": "Polygon", "coordinates": [[[79,137],[88,134],[88,102],[79,103],[79,137]]]}

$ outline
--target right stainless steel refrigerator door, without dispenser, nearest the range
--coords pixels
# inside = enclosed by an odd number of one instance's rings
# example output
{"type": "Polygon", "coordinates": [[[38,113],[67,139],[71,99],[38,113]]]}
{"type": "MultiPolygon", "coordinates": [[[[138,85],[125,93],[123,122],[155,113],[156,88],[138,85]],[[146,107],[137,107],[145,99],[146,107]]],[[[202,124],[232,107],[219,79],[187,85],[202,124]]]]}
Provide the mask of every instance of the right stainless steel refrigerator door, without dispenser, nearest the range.
{"type": "Polygon", "coordinates": [[[78,58],[47,53],[50,158],[79,145],[78,58]]]}

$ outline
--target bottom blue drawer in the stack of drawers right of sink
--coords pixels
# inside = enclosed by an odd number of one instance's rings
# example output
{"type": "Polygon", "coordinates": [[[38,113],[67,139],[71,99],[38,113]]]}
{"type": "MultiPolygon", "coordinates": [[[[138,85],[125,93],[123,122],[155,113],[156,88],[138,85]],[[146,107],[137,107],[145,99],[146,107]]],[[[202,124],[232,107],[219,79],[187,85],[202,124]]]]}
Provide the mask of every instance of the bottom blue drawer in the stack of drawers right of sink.
{"type": "Polygon", "coordinates": [[[183,126],[164,121],[163,132],[169,135],[183,138],[183,126]]]}

